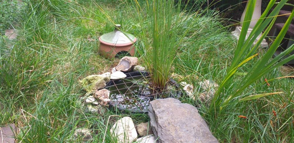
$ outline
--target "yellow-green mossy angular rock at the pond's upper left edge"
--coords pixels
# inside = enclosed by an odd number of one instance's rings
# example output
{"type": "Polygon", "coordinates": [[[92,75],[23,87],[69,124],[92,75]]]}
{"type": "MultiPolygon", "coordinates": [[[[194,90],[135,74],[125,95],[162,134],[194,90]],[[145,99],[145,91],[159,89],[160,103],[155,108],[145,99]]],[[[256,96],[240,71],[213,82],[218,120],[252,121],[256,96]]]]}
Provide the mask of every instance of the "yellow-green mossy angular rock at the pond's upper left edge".
{"type": "Polygon", "coordinates": [[[109,80],[110,72],[106,72],[104,74],[90,75],[79,82],[83,86],[84,90],[88,93],[93,93],[97,89],[104,88],[109,80]]]}

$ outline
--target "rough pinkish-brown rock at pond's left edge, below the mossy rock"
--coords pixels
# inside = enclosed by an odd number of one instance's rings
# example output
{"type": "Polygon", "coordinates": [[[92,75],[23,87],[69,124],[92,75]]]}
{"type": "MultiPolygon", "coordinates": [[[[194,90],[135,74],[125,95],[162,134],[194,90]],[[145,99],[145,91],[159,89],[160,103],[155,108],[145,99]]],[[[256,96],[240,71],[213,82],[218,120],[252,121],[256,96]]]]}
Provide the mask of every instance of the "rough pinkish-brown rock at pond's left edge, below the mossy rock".
{"type": "Polygon", "coordinates": [[[95,90],[93,97],[97,99],[101,106],[108,106],[110,91],[107,89],[95,90]]]}

